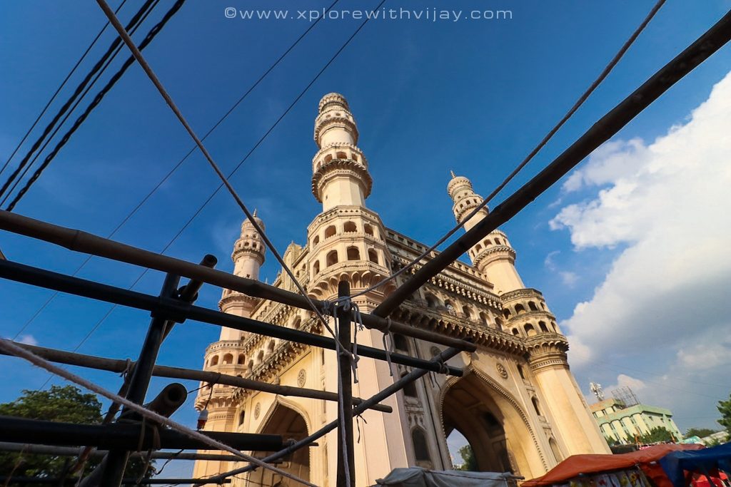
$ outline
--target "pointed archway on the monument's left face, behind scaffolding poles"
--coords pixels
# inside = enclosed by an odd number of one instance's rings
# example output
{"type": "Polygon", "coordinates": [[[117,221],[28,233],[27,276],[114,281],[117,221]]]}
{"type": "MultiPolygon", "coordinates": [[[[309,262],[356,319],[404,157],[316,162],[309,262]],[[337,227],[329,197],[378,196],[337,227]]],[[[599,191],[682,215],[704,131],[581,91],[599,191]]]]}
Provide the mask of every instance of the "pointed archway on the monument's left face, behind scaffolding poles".
{"type": "MultiPolygon", "coordinates": [[[[260,433],[281,434],[284,440],[302,440],[307,436],[307,424],[305,418],[297,411],[283,404],[276,404],[260,433]]],[[[254,456],[261,458],[268,453],[271,452],[256,451],[254,456]]],[[[277,467],[303,480],[310,480],[310,453],[308,448],[300,448],[292,455],[284,457],[282,463],[277,467]]],[[[265,469],[257,469],[249,473],[248,480],[253,486],[287,487],[295,485],[292,480],[282,478],[281,475],[265,469]]],[[[297,485],[299,484],[297,483],[297,485]]]]}

